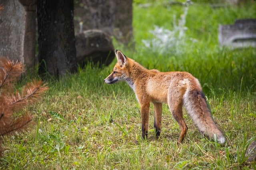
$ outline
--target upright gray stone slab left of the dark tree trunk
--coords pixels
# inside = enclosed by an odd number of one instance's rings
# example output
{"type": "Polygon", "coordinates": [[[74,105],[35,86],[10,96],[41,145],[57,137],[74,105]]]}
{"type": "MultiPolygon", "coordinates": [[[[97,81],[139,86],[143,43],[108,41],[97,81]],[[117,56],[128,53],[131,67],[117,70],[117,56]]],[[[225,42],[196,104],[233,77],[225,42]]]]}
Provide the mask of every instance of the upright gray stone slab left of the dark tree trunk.
{"type": "Polygon", "coordinates": [[[33,69],[36,64],[35,1],[0,0],[4,7],[0,14],[0,56],[18,60],[29,69],[33,69]]]}

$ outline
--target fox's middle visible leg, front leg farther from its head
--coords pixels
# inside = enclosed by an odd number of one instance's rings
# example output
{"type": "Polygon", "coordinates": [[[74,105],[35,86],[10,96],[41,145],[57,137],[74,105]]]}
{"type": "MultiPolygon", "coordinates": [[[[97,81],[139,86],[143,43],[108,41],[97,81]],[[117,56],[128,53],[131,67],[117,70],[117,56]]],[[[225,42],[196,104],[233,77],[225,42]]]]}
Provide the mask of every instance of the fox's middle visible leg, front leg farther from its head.
{"type": "Polygon", "coordinates": [[[162,128],[162,103],[153,102],[154,104],[154,112],[155,112],[155,120],[154,120],[154,128],[155,128],[155,138],[158,139],[161,133],[162,128]]]}

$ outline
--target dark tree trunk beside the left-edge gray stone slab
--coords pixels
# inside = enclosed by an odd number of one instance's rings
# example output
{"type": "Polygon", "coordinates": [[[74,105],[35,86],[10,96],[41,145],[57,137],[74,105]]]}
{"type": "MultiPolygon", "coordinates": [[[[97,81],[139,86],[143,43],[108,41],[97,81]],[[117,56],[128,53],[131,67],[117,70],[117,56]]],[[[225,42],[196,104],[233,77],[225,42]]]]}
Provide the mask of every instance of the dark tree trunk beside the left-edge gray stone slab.
{"type": "Polygon", "coordinates": [[[76,72],[74,0],[38,0],[39,74],[76,72]]]}

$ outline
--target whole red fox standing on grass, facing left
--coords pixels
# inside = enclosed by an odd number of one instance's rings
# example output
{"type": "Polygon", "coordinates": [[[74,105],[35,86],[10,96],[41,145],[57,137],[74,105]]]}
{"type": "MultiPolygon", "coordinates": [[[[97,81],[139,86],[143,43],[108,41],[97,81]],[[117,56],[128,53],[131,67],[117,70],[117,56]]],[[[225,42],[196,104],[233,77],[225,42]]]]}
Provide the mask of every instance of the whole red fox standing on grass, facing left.
{"type": "Polygon", "coordinates": [[[167,103],[181,130],[177,143],[182,143],[188,129],[182,115],[182,106],[186,108],[203,135],[212,139],[215,136],[218,143],[225,142],[222,131],[214,123],[197,78],[188,72],[148,70],[126,57],[121,51],[115,50],[115,53],[118,62],[104,82],[114,84],[125,81],[133,89],[140,104],[143,139],[147,139],[148,136],[149,108],[152,102],[156,138],[161,133],[162,103],[167,103]]]}

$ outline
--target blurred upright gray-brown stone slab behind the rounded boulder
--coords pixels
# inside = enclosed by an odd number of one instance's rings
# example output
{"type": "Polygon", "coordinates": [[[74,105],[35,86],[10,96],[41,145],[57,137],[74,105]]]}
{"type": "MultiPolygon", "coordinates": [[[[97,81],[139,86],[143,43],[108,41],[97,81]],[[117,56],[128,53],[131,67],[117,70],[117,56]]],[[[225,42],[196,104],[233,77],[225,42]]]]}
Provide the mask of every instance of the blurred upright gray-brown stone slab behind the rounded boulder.
{"type": "Polygon", "coordinates": [[[77,0],[74,27],[75,35],[100,29],[128,45],[133,39],[132,0],[77,0]]]}

